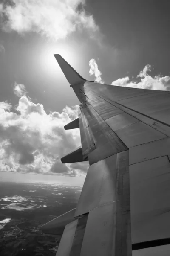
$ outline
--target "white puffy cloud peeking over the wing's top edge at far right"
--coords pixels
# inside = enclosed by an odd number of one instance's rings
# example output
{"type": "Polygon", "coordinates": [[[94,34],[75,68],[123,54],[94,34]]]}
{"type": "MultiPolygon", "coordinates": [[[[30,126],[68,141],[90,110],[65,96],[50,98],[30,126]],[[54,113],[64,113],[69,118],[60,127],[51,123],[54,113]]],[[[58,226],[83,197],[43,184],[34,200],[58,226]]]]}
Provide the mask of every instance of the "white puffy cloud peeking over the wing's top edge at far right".
{"type": "Polygon", "coordinates": [[[151,71],[151,65],[146,65],[139,75],[140,81],[130,81],[128,76],[119,78],[113,81],[112,85],[125,86],[125,87],[134,87],[142,89],[151,89],[151,90],[170,90],[170,76],[150,76],[148,72],[151,71]]]}

